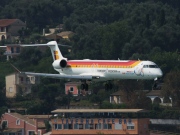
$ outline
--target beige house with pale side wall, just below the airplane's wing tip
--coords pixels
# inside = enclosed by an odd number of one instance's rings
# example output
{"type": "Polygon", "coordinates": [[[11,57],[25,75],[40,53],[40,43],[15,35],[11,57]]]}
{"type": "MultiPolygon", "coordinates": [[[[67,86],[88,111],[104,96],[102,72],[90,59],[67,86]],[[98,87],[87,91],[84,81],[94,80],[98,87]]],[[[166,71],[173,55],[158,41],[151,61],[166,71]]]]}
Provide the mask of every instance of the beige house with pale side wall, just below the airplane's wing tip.
{"type": "Polygon", "coordinates": [[[20,93],[26,95],[31,93],[32,85],[39,84],[40,77],[27,76],[25,74],[13,73],[6,76],[6,97],[13,98],[20,93]]]}

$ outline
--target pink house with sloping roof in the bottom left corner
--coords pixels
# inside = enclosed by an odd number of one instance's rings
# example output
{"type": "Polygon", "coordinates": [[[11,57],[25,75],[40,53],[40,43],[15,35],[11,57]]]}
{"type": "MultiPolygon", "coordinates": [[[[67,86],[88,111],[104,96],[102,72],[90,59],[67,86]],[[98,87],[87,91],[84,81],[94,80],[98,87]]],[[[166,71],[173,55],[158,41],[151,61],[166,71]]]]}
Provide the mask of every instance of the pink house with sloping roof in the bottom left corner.
{"type": "MultiPolygon", "coordinates": [[[[42,116],[42,115],[41,115],[42,116]]],[[[43,135],[46,132],[44,122],[34,117],[30,119],[18,113],[5,113],[1,119],[4,135],[43,135]]],[[[43,116],[42,116],[43,117],[43,116]]]]}

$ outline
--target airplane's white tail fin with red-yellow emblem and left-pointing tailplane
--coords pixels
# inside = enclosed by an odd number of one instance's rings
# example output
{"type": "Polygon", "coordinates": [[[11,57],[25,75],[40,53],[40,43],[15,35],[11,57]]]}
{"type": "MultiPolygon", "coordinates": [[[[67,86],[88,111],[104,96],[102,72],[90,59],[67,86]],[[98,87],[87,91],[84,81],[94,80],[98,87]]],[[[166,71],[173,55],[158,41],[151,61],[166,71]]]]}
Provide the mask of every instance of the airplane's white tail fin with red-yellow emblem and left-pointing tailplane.
{"type": "Polygon", "coordinates": [[[53,57],[53,60],[62,60],[62,59],[67,59],[67,58],[64,58],[61,54],[61,51],[58,47],[58,44],[56,41],[50,41],[48,42],[47,44],[23,44],[23,45],[20,45],[22,47],[27,47],[27,46],[49,46],[50,49],[51,49],[51,54],[52,54],[52,57],[53,57]]]}

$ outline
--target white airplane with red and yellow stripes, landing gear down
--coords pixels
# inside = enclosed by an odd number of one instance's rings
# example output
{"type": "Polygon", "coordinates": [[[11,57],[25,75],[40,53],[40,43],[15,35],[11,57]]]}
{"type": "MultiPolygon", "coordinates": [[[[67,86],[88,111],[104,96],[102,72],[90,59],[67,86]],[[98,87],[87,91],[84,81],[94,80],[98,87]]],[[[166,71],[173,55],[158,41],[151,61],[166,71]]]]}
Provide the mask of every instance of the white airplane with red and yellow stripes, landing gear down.
{"type": "MultiPolygon", "coordinates": [[[[58,74],[21,72],[26,75],[42,76],[56,79],[79,79],[81,89],[88,90],[86,81],[107,81],[106,89],[111,89],[109,83],[115,79],[143,79],[156,80],[162,77],[161,69],[152,61],[141,60],[68,60],[63,57],[56,41],[47,44],[20,44],[22,47],[28,46],[48,46],[50,47],[54,70],[58,74]]],[[[14,67],[15,68],[15,67],[14,67]]],[[[18,70],[18,69],[17,69],[18,70]]]]}

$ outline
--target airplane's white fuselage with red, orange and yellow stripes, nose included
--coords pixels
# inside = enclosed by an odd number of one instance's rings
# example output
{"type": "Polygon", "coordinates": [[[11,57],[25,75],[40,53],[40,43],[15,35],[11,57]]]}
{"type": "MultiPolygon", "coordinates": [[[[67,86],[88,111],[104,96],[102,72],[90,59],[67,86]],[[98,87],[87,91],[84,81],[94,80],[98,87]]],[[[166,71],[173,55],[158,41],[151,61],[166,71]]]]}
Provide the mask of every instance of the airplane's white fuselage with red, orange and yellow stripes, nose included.
{"type": "Polygon", "coordinates": [[[71,60],[62,69],[63,75],[92,75],[99,80],[155,79],[162,76],[161,69],[151,61],[71,60]]]}

